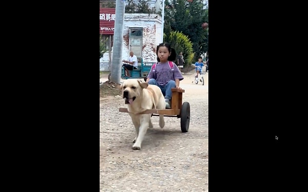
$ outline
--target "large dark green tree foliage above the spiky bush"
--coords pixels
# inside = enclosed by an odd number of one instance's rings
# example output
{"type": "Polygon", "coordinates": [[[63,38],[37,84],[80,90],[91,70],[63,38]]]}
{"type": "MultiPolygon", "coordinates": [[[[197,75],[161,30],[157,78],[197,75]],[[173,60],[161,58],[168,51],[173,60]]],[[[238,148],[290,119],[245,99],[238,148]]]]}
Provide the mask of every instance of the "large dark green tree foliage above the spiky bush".
{"type": "Polygon", "coordinates": [[[204,8],[203,1],[166,0],[164,20],[166,36],[172,31],[187,35],[196,58],[208,50],[208,32],[202,28],[203,23],[208,23],[208,9],[204,8]]]}

